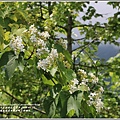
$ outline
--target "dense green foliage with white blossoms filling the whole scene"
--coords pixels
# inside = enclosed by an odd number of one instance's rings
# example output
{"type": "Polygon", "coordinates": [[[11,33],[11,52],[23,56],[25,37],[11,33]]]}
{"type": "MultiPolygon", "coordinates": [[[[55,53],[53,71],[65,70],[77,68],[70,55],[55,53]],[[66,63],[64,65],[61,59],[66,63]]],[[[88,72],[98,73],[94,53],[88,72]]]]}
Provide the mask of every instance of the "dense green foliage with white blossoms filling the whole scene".
{"type": "Polygon", "coordinates": [[[103,17],[88,5],[0,2],[0,104],[39,104],[29,112],[0,111],[1,117],[120,116],[120,54],[108,61],[95,56],[101,42],[119,46],[120,13],[102,25],[82,24],[76,17],[84,9],[84,21],[103,17]],[[74,28],[85,37],[73,39],[74,28]],[[75,41],[80,47],[73,50],[75,41]]]}

